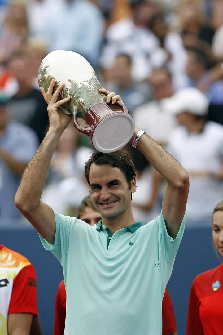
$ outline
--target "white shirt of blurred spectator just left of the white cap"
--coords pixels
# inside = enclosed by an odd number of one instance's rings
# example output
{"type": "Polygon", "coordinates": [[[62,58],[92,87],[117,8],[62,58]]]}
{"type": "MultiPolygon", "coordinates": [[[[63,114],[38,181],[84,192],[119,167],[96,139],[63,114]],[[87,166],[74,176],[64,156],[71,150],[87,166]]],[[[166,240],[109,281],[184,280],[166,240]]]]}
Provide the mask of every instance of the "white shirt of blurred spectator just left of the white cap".
{"type": "Polygon", "coordinates": [[[135,109],[133,118],[139,128],[159,143],[167,143],[177,125],[176,117],[166,113],[157,100],[152,100],[135,109]]]}

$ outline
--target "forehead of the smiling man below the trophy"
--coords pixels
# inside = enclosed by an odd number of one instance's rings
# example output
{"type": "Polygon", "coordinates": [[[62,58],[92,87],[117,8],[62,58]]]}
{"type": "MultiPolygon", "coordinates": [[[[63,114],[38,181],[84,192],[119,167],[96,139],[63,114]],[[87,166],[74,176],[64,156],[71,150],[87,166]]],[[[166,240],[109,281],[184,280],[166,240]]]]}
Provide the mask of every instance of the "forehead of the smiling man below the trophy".
{"type": "Polygon", "coordinates": [[[96,165],[92,163],[89,172],[90,184],[107,184],[111,180],[126,180],[124,173],[118,168],[111,165],[96,165]]]}

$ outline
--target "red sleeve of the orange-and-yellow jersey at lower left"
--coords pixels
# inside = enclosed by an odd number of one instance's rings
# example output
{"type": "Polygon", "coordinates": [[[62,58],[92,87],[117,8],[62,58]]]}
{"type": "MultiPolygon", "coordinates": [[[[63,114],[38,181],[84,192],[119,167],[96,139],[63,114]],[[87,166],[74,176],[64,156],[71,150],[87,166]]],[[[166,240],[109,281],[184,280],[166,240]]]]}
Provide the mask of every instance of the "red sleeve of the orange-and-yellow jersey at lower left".
{"type": "Polygon", "coordinates": [[[19,271],[13,281],[12,295],[8,314],[38,314],[36,295],[36,273],[32,264],[19,271]]]}

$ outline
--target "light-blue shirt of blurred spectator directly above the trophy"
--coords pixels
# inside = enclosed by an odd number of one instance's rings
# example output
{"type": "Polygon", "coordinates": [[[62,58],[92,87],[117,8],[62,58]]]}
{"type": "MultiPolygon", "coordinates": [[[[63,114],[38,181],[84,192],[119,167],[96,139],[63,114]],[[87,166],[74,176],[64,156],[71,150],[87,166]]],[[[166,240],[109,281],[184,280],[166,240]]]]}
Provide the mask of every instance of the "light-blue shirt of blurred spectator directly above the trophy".
{"type": "Polygon", "coordinates": [[[97,67],[103,29],[102,13],[93,2],[66,0],[63,8],[48,19],[42,38],[47,38],[51,51],[75,51],[97,67]]]}

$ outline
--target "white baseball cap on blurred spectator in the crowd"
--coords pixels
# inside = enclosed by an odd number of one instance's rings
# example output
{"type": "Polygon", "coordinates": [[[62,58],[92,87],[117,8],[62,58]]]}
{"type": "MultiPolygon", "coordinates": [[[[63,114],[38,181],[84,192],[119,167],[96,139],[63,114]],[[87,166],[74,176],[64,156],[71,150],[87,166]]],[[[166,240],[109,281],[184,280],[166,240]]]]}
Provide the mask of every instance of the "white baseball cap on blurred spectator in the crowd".
{"type": "Polygon", "coordinates": [[[170,114],[189,112],[203,116],[208,112],[209,101],[204,93],[194,87],[182,88],[172,97],[162,99],[161,108],[170,114]]]}

